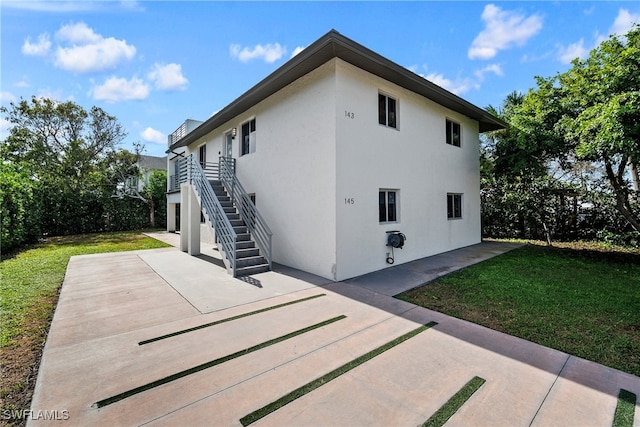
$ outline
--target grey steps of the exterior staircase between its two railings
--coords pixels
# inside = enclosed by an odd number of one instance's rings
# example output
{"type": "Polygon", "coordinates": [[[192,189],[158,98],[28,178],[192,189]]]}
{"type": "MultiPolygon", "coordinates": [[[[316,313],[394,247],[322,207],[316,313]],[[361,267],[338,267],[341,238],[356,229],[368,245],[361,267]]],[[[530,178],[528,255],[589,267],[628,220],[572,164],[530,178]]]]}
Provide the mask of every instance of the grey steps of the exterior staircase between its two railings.
{"type": "Polygon", "coordinates": [[[231,197],[219,180],[210,180],[211,188],[215,193],[220,206],[224,210],[233,231],[237,234],[236,240],[236,276],[249,276],[251,274],[264,273],[269,271],[269,262],[261,255],[260,249],[256,247],[256,242],[252,239],[247,224],[240,217],[238,209],[231,201],[231,197]]]}

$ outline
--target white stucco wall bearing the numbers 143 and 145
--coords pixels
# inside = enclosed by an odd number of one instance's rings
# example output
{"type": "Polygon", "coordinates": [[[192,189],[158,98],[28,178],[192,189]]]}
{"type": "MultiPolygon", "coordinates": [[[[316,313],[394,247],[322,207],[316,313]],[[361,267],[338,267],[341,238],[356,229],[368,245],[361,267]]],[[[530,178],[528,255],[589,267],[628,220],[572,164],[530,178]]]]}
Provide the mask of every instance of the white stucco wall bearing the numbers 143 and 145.
{"type": "Polygon", "coordinates": [[[341,60],[336,85],[336,279],[389,267],[386,231],[407,236],[395,264],[480,242],[478,123],[341,60]],[[378,124],[379,92],[397,100],[397,129],[378,124]],[[396,223],[379,223],[380,189],[399,190],[396,223]],[[463,193],[462,219],[447,219],[448,192],[463,193]]]}

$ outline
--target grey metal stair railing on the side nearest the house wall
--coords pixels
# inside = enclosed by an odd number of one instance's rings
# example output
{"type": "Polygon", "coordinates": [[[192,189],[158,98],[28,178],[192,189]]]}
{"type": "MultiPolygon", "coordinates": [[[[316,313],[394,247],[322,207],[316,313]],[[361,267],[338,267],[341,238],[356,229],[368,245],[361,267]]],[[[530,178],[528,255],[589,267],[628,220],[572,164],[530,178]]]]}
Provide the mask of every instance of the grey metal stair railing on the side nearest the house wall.
{"type": "Polygon", "coordinates": [[[238,181],[236,177],[236,159],[221,156],[219,174],[222,185],[224,185],[238,212],[240,212],[240,218],[246,224],[258,249],[260,249],[269,263],[269,269],[271,269],[273,233],[262,215],[260,215],[260,212],[258,212],[258,209],[256,209],[256,205],[251,201],[249,194],[238,181]]]}

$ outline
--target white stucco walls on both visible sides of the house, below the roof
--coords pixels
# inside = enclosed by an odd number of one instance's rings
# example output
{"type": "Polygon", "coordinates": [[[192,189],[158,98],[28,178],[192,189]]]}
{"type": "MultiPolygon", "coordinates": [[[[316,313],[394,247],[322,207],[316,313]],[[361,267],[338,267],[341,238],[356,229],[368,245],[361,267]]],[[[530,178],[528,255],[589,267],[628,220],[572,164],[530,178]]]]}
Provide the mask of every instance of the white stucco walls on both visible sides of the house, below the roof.
{"type": "Polygon", "coordinates": [[[395,264],[480,242],[478,122],[340,59],[189,145],[217,162],[237,129],[237,175],[273,231],[273,261],[332,280],[390,265],[386,231],[407,236],[395,264]],[[378,93],[398,102],[398,128],[378,124],[378,93]],[[256,150],[241,156],[242,124],[256,119],[256,150]],[[462,146],[445,143],[445,121],[462,146]],[[378,191],[399,191],[396,223],[380,224],[378,191]],[[447,193],[463,218],[447,219],[447,193]]]}

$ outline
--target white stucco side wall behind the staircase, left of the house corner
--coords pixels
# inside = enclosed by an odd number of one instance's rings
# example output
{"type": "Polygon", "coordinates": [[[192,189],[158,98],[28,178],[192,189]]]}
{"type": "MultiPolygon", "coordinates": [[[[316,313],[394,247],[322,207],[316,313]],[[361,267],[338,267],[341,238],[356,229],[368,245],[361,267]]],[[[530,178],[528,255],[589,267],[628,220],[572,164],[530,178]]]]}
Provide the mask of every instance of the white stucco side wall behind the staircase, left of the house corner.
{"type": "MultiPolygon", "coordinates": [[[[333,70],[329,61],[221,127],[237,129],[236,174],[273,232],[273,261],[329,279],[336,264],[333,70]],[[240,156],[242,123],[252,118],[256,151],[240,156]]],[[[222,151],[223,138],[222,131],[207,136],[207,153],[222,151]]]]}

